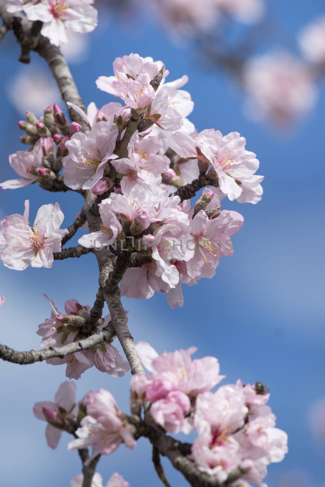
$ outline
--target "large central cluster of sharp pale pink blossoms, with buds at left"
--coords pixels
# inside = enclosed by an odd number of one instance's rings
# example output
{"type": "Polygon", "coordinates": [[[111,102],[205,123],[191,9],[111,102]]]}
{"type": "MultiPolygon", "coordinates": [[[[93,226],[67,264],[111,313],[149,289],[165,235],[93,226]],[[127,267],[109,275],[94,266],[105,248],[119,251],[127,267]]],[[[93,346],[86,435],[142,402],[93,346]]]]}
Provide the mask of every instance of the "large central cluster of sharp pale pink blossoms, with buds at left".
{"type": "MultiPolygon", "coordinates": [[[[122,295],[148,299],[156,290],[167,294],[172,308],[182,306],[181,284],[213,277],[220,258],[232,255],[230,237],[243,217],[220,211],[220,201],[226,196],[239,203],[260,201],[259,162],[238,132],[196,131],[187,118],[193,110],[191,95],[181,89],[187,76],[166,82],[169,73],[161,61],[137,54],[116,58],[113,69],[114,76],[100,76],[96,84],[124,105],[111,102],[98,109],[91,103],[86,113],[68,103],[88,125],[85,133],[76,122],[69,125],[57,105],[47,107],[41,120],[28,112],[19,127],[26,131],[22,142],[34,147],[10,156],[22,180],[1,185],[39,181],[46,187],[62,179],[63,165],[66,188],[103,195],[101,226],[79,244],[149,257],[142,267],[127,269],[122,295]],[[133,126],[122,150],[126,130],[133,126]],[[173,193],[197,178],[206,178],[201,187],[210,188],[191,209],[190,200],[173,193]]],[[[46,237],[37,245],[46,246],[46,237]]]]}

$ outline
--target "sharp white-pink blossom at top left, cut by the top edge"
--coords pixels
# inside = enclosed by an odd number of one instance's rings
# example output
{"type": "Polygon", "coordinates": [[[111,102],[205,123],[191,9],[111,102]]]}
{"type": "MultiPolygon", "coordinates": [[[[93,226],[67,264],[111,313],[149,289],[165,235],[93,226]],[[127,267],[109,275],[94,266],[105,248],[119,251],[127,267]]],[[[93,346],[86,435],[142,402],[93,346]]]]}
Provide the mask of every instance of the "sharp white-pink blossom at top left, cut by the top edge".
{"type": "Polygon", "coordinates": [[[27,19],[43,22],[41,34],[52,44],[67,42],[66,29],[81,34],[91,32],[97,25],[95,0],[6,0],[7,11],[24,11],[27,19]]]}

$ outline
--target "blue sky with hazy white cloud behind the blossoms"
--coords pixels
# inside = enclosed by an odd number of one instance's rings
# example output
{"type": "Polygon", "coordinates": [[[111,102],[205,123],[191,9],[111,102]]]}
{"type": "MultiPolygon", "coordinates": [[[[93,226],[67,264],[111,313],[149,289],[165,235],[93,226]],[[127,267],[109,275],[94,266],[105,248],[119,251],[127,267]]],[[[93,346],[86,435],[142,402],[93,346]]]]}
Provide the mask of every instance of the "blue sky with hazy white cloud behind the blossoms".
{"type": "MultiPolygon", "coordinates": [[[[277,23],[272,42],[295,50],[295,35],[306,22],[325,13],[323,0],[272,0],[277,23]]],[[[203,68],[193,46],[177,47],[156,25],[141,18],[142,29],[123,25],[114,16],[100,16],[98,29],[91,35],[91,56],[72,64],[85,103],[98,106],[113,98],[96,89],[99,75],[111,75],[116,56],[137,52],[162,59],[170,80],[189,75],[187,90],[195,106],[190,115],[197,129],[215,128],[224,134],[238,131],[247,139],[247,149],[260,160],[259,173],[265,175],[264,196],[258,205],[224,201],[225,209],[244,215],[242,230],[233,241],[233,257],[224,258],[212,280],[184,289],[184,307],[171,310],[162,295],[146,302],[124,299],[129,325],[136,340],[147,340],[160,352],[195,345],[197,356],[218,357],[226,381],[257,380],[271,387],[270,406],[277,425],[289,435],[289,453],[284,462],[269,468],[267,483],[276,487],[279,476],[290,469],[306,470],[310,487],[325,481],[325,448],[316,444],[308,426],[308,410],[324,390],[324,112],[325,90],[320,86],[316,109],[288,132],[249,121],[243,112],[240,93],[229,86],[227,76],[203,68]]],[[[1,44],[1,90],[7,93],[16,75],[46,70],[38,56],[32,64],[17,62],[18,47],[10,36],[1,44]]],[[[49,99],[46,104],[59,101],[49,99]]],[[[1,97],[0,131],[1,180],[13,178],[8,154],[19,149],[23,118],[6,96],[1,97]]],[[[63,104],[62,104],[63,106],[63,104]]],[[[31,107],[32,109],[33,107],[31,107]]],[[[44,192],[39,187],[0,192],[0,217],[23,211],[30,199],[31,220],[42,204],[59,202],[64,224],[70,225],[82,206],[77,194],[44,192]]],[[[74,240],[73,242],[76,242],[74,240]]],[[[77,299],[92,304],[97,290],[97,268],[92,255],[71,262],[55,262],[51,270],[28,268],[14,272],[1,265],[0,294],[6,296],[1,308],[0,342],[17,350],[37,349],[38,324],[49,317],[46,293],[63,309],[64,301],[77,299]]],[[[46,447],[45,423],[32,414],[34,402],[52,400],[65,380],[64,367],[46,364],[18,366],[0,363],[2,377],[0,456],[3,484],[69,485],[80,471],[76,453],[68,453],[68,435],[57,450],[46,447]]],[[[77,395],[104,387],[128,411],[128,383],[91,369],[77,381],[77,395]]],[[[122,446],[103,457],[98,471],[104,481],[113,471],[123,474],[132,487],[159,485],[151,451],[140,440],[131,452],[122,446]]],[[[185,487],[185,480],[164,461],[172,486],[185,487]]],[[[286,486],[284,486],[286,487],[286,486]]]]}

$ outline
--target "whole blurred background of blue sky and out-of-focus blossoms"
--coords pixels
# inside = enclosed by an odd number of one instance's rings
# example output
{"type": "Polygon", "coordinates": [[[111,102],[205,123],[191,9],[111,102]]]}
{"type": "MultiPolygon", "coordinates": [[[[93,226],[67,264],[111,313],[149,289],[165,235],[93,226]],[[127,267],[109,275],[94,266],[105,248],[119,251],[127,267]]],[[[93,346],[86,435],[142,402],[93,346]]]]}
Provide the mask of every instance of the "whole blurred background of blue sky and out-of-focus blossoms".
{"type": "MultiPolygon", "coordinates": [[[[197,3],[195,11],[188,0],[146,0],[141,6],[97,0],[96,30],[74,35],[64,47],[86,105],[113,101],[96,89],[95,80],[113,75],[116,56],[134,52],[160,59],[170,71],[168,81],[189,75],[185,89],[194,101],[189,118],[197,130],[240,132],[260,160],[258,173],[265,175],[258,205],[223,201],[224,209],[245,218],[233,239],[234,255],[222,259],[212,280],[184,286],[182,309],[170,309],[158,294],[146,302],[124,298],[123,305],[136,341],[147,340],[160,353],[195,345],[197,357],[218,357],[227,376],[223,383],[241,378],[270,385],[270,406],[277,426],[288,433],[289,453],[269,467],[268,487],[324,487],[325,36],[317,43],[318,24],[315,31],[315,22],[322,17],[324,22],[324,0],[227,0],[213,12],[209,1],[197,3]]],[[[26,110],[40,116],[50,103],[63,108],[45,63],[35,53],[29,65],[18,57],[19,46],[8,33],[0,46],[1,181],[16,177],[8,155],[26,149],[17,126],[26,110]]],[[[28,198],[31,221],[39,206],[57,201],[63,228],[82,206],[78,194],[34,185],[1,190],[0,218],[21,214],[28,198]]],[[[38,324],[50,317],[43,293],[61,311],[67,299],[91,305],[97,281],[92,255],[23,273],[1,264],[6,302],[0,343],[38,349],[38,324]]],[[[65,367],[1,362],[0,370],[2,485],[69,486],[80,471],[77,454],[66,449],[70,438],[64,433],[57,450],[50,450],[45,423],[32,413],[36,401],[53,399],[65,367]]],[[[77,398],[104,387],[127,412],[129,380],[92,368],[77,381],[77,398]]],[[[188,485],[168,461],[163,464],[172,486],[188,485]]],[[[104,485],[113,471],[132,487],[160,485],[142,439],[134,451],[122,446],[102,457],[97,469],[104,485]]]]}

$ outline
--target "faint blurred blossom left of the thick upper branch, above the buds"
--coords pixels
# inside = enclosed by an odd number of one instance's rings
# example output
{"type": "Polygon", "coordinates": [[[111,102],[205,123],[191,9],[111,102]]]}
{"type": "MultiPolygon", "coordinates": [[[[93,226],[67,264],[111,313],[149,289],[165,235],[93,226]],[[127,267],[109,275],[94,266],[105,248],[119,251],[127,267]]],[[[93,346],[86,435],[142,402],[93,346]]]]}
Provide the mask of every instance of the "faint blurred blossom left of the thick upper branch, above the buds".
{"type": "Polygon", "coordinates": [[[61,99],[53,78],[42,69],[36,68],[35,64],[24,66],[9,81],[6,91],[11,103],[22,115],[30,111],[38,116],[50,102],[61,99]]]}

